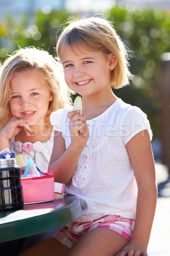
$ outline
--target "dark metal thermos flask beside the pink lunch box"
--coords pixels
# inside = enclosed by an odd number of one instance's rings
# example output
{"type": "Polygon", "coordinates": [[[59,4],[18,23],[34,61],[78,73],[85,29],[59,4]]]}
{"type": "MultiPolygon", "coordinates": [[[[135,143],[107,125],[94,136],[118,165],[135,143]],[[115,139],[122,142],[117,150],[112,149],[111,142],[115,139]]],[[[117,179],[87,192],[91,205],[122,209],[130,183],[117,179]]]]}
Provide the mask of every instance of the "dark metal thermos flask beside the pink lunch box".
{"type": "Polygon", "coordinates": [[[0,159],[0,212],[23,208],[20,176],[15,158],[0,159]]]}

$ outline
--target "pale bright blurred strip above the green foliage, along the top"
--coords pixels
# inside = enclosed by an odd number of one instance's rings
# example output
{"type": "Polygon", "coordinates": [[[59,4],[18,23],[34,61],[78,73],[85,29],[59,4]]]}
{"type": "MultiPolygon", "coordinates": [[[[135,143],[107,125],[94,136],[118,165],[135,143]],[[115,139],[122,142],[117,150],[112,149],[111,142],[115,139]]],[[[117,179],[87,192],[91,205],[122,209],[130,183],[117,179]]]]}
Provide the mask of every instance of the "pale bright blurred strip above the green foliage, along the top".
{"type": "Polygon", "coordinates": [[[169,0],[0,0],[1,17],[6,12],[21,14],[42,9],[48,14],[51,10],[66,9],[68,12],[98,13],[116,4],[129,4],[141,8],[170,9],[169,0]]]}

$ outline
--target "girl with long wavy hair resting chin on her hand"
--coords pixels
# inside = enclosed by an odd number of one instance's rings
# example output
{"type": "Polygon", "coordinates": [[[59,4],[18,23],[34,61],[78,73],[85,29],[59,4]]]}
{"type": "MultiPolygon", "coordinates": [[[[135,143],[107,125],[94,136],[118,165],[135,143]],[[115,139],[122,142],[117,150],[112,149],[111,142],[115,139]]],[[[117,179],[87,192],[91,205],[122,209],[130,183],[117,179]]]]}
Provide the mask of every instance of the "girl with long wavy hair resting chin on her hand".
{"type": "Polygon", "coordinates": [[[0,70],[0,151],[31,157],[47,172],[54,132],[50,114],[64,108],[68,90],[59,63],[34,47],[18,49],[0,70]]]}

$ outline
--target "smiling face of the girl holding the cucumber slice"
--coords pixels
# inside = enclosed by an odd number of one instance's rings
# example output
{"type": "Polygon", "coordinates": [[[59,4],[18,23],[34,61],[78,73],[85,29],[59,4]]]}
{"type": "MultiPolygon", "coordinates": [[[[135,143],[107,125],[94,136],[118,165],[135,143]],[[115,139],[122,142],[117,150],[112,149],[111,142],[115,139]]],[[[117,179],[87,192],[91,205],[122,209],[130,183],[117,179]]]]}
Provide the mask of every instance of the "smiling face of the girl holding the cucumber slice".
{"type": "Polygon", "coordinates": [[[111,70],[116,66],[111,53],[65,47],[62,64],[68,87],[82,96],[99,96],[111,90],[111,70]],[[114,63],[114,64],[113,64],[114,63]]]}

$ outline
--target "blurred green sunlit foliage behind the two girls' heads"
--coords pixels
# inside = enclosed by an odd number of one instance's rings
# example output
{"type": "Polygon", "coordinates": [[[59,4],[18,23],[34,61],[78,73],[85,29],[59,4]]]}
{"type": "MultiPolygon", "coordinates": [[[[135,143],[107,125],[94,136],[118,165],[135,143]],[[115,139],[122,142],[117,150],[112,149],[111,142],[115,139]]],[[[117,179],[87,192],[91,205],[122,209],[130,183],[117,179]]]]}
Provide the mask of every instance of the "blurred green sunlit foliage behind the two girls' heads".
{"type": "MultiPolygon", "coordinates": [[[[170,12],[122,5],[101,15],[114,23],[133,55],[129,60],[134,75],[130,86],[113,91],[125,102],[141,108],[150,120],[153,137],[159,137],[161,54],[170,52],[170,12]]],[[[65,10],[49,14],[35,12],[34,17],[24,14],[20,19],[6,15],[6,19],[0,21],[0,61],[18,46],[34,45],[55,55],[60,26],[77,16],[65,10]]]]}

